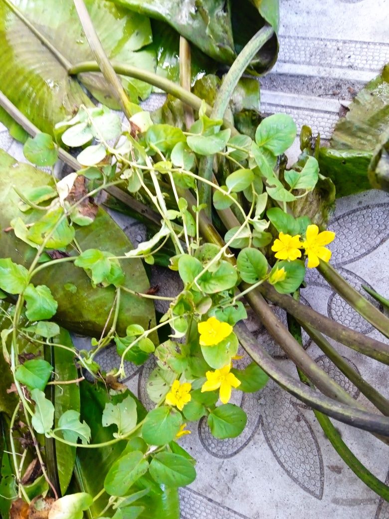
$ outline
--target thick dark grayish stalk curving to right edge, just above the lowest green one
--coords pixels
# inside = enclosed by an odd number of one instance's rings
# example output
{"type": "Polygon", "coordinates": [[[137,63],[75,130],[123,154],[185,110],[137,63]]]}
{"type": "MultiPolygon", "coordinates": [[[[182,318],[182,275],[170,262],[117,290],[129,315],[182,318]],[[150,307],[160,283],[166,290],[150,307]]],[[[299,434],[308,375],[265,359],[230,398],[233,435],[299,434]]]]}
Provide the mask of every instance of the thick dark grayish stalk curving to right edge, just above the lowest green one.
{"type": "Polygon", "coordinates": [[[344,424],[389,437],[389,418],[336,402],[318,391],[313,391],[305,384],[284,372],[280,367],[279,362],[274,360],[248,332],[246,325],[243,322],[239,322],[235,325],[234,332],[237,334],[240,344],[249,356],[269,375],[269,377],[290,394],[293,394],[294,397],[305,402],[310,407],[317,409],[317,411],[325,413],[344,424]]]}

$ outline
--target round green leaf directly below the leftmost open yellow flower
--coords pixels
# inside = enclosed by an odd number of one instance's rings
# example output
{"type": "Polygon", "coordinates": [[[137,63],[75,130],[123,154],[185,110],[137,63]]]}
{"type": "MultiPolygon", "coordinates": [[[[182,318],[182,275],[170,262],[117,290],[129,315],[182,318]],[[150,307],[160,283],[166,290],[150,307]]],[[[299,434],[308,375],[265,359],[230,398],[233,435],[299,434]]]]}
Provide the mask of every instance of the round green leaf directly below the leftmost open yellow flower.
{"type": "Polygon", "coordinates": [[[182,422],[181,414],[173,407],[157,407],[146,416],[142,437],[149,445],[165,445],[174,440],[182,422]]]}

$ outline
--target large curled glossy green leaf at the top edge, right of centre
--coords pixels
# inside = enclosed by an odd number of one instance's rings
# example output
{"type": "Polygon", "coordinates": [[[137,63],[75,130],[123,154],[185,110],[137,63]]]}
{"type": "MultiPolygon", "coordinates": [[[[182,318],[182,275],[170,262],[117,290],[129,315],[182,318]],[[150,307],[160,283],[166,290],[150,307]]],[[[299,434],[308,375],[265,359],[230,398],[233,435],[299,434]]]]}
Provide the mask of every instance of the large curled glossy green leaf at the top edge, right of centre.
{"type": "MultiPolygon", "coordinates": [[[[279,25],[278,0],[114,0],[118,5],[144,13],[150,18],[161,20],[172,26],[207,56],[221,63],[231,64],[237,52],[268,22],[274,30],[279,25]]],[[[161,40],[164,52],[170,56],[170,67],[174,53],[178,56],[177,42],[169,36],[161,40]],[[173,50],[174,49],[174,50],[173,50]]],[[[252,62],[257,72],[265,72],[275,62],[278,50],[276,36],[263,47],[252,62]]],[[[210,72],[210,71],[208,71],[210,72]]]]}

